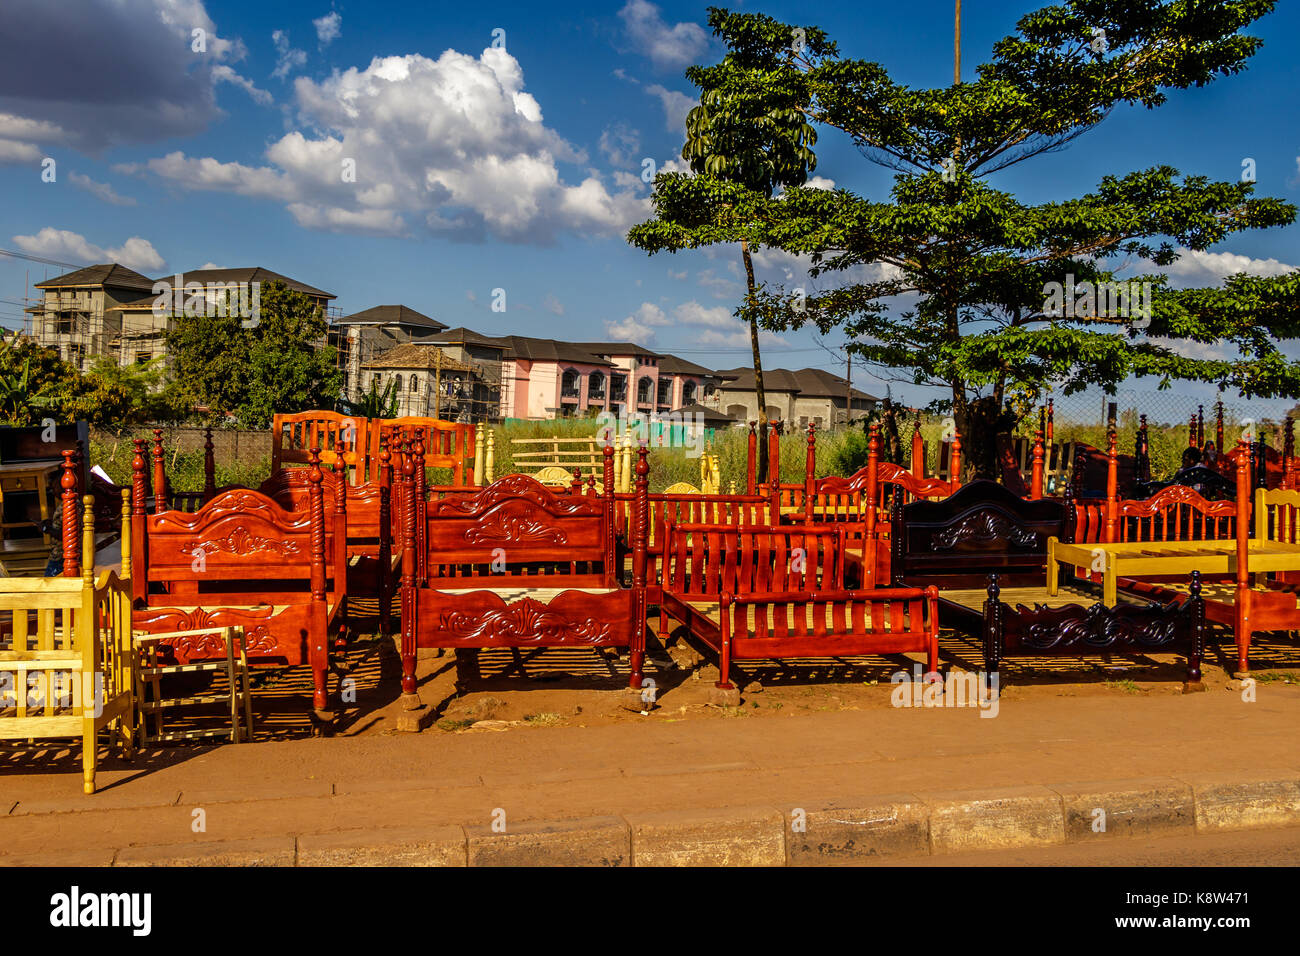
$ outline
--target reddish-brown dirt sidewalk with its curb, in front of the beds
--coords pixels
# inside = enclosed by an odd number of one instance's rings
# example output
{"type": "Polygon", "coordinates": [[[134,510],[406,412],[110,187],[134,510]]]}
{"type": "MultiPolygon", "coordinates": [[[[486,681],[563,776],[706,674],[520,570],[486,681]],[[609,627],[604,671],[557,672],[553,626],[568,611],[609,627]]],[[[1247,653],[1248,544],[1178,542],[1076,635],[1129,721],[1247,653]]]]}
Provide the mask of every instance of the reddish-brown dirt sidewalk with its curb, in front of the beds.
{"type": "Polygon", "coordinates": [[[172,749],[90,797],[77,761],[10,754],[0,864],[836,862],[1296,826],[1297,728],[1274,683],[172,749]]]}

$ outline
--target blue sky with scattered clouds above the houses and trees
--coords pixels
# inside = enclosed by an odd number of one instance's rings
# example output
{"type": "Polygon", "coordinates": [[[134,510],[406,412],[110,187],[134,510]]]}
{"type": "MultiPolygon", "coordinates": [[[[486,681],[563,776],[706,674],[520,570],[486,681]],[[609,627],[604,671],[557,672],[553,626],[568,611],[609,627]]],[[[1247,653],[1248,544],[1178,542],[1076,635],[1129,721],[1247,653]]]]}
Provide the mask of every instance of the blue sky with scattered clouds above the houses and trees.
{"type": "MultiPolygon", "coordinates": [[[[966,4],[966,74],[1039,5],[966,4]]],[[[952,0],[742,7],[822,26],[902,82],[952,77],[952,0]]],[[[1154,164],[1235,179],[1251,157],[1258,195],[1300,202],[1300,13],[1279,7],[1252,31],[1265,46],[1245,73],[1154,112],[1117,109],[998,185],[1040,202],[1154,164]]],[[[680,150],[684,68],[719,55],[705,18],[705,4],[646,0],[5,0],[0,248],[151,277],[264,265],[334,293],[344,312],[404,303],[485,333],[630,337],[748,364],[731,317],[738,254],[647,258],[623,239],[644,216],[645,163],[680,150]],[[46,157],[55,182],[42,181],[46,157]],[[490,310],[495,289],[504,312],[490,310]]],[[[824,131],[818,153],[818,176],[887,194],[890,173],[842,138],[824,131]]],[[[1294,267],[1297,237],[1234,237],[1175,278],[1294,267]]],[[[800,268],[774,254],[760,267],[772,280],[800,268]]],[[[0,321],[17,325],[26,282],[61,271],[0,256],[0,321]]],[[[770,338],[764,363],[842,371],[841,343],[770,338]]],[[[855,384],[884,389],[861,372],[855,384]]]]}

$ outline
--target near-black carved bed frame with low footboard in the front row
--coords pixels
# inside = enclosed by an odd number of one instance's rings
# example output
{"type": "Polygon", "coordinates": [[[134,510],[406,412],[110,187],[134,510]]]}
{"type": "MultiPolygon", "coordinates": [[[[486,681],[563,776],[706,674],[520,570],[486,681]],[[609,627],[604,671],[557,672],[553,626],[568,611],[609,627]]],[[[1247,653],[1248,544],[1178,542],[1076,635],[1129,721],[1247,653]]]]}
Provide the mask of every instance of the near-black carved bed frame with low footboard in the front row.
{"type": "Polygon", "coordinates": [[[1049,597],[1048,540],[1065,524],[1065,502],[1024,501],[993,481],[972,481],[944,501],[898,503],[894,583],[939,585],[940,624],[980,639],[991,675],[1013,656],[1145,653],[1183,644],[1186,689],[1199,689],[1200,576],[1192,575],[1187,600],[1166,604],[1126,597],[1108,607],[1084,589],[1049,597]]]}

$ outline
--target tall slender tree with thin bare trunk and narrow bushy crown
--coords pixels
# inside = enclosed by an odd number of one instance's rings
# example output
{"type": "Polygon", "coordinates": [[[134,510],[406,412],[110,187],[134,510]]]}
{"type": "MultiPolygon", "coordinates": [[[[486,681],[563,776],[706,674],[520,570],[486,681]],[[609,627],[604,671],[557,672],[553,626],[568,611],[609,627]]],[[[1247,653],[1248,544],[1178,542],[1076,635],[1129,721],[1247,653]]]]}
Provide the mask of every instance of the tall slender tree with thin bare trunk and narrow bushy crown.
{"type": "MultiPolygon", "coordinates": [[[[720,64],[686,70],[686,78],[699,88],[699,105],[686,116],[686,142],[681,157],[696,176],[732,183],[770,199],[777,189],[807,182],[809,173],[816,166],[812,152],[816,130],[800,109],[809,98],[802,74],[788,64],[780,68],[780,85],[774,85],[764,69],[768,62],[754,55],[751,34],[741,29],[736,39],[737,43],[720,64]]],[[[798,33],[790,33],[786,42],[793,48],[806,40],[798,33]]],[[[760,51],[760,38],[758,43],[760,51]]],[[[820,36],[812,38],[812,43],[818,53],[823,52],[820,36]]],[[[754,359],[758,420],[766,432],[767,394],[758,347],[758,282],[753,259],[758,243],[751,242],[745,230],[744,212],[733,209],[723,199],[703,207],[666,204],[656,213],[655,220],[642,222],[628,233],[632,245],[650,254],[698,248],[715,242],[740,242],[748,306],[744,313],[749,321],[754,359]],[[737,212],[741,215],[737,216],[737,212]]],[[[766,472],[766,464],[760,457],[760,472],[766,472]]]]}

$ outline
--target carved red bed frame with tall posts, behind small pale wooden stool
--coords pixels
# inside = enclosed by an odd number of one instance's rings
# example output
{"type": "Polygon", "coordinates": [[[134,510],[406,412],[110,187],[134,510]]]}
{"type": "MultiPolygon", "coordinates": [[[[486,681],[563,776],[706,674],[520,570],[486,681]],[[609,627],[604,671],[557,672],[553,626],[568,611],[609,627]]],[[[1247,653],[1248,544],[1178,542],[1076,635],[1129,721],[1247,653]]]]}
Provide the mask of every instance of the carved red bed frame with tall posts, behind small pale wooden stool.
{"type": "MultiPolygon", "coordinates": [[[[347,602],[346,483],[328,514],[318,454],[307,467],[308,507],[290,511],[248,489],[198,511],[147,514],[144,463],[134,462],[134,626],[157,633],[242,626],[252,665],[311,663],[313,704],[326,717],[330,632],[342,640],[347,602]]],[[[225,654],[217,641],[168,641],[176,663],[225,654]]]]}

